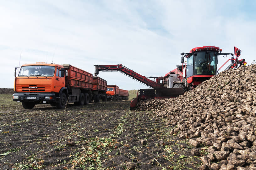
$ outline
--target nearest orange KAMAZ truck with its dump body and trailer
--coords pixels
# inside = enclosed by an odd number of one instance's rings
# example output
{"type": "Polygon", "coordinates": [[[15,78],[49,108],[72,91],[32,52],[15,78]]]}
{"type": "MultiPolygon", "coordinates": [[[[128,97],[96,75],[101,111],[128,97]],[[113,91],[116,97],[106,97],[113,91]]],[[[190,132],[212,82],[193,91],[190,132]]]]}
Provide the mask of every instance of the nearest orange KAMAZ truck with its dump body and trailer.
{"type": "Polygon", "coordinates": [[[85,105],[107,98],[106,80],[69,64],[24,64],[18,75],[16,71],[13,101],[22,102],[25,109],[36,104],[65,108],[68,103],[85,105]]]}

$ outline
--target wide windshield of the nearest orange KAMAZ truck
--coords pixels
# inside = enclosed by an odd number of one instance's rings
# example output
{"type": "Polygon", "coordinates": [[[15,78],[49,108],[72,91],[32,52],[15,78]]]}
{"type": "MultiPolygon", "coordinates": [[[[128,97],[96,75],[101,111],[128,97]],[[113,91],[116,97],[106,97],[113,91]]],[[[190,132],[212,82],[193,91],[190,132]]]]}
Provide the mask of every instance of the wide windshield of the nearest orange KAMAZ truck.
{"type": "Polygon", "coordinates": [[[23,66],[19,76],[53,76],[54,70],[54,66],[23,66]]]}

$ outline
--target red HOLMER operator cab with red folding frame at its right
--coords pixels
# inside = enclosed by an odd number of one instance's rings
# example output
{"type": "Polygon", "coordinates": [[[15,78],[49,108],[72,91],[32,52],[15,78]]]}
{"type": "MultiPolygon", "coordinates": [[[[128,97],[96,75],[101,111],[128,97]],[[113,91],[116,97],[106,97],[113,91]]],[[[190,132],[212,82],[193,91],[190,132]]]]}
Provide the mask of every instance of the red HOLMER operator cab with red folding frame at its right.
{"type": "MultiPolygon", "coordinates": [[[[234,54],[232,53],[221,52],[222,50],[219,47],[203,46],[195,47],[191,49],[189,53],[181,53],[181,72],[183,74],[183,86],[190,90],[198,86],[203,81],[208,80],[212,76],[216,75],[221,69],[220,68],[219,70],[217,70],[218,56],[232,56],[232,58],[229,59],[232,61],[232,63],[229,65],[228,68],[237,68],[240,65],[246,64],[244,59],[238,60],[238,57],[241,55],[241,50],[239,50],[237,47],[235,47],[235,55],[237,56],[236,59],[234,59],[234,54]],[[185,63],[184,59],[186,59],[185,63]]],[[[224,66],[226,63],[224,63],[222,66],[224,66]]]]}

